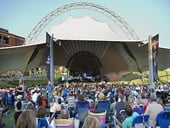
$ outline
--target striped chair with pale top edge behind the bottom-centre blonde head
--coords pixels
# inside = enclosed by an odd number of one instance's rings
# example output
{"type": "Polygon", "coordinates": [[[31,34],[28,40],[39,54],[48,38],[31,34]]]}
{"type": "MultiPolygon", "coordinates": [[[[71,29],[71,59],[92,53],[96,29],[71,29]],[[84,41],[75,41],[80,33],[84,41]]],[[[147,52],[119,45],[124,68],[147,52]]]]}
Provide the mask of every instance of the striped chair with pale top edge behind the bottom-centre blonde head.
{"type": "Polygon", "coordinates": [[[96,117],[100,122],[100,128],[105,128],[106,123],[106,111],[101,113],[94,113],[88,111],[88,115],[96,117]]]}

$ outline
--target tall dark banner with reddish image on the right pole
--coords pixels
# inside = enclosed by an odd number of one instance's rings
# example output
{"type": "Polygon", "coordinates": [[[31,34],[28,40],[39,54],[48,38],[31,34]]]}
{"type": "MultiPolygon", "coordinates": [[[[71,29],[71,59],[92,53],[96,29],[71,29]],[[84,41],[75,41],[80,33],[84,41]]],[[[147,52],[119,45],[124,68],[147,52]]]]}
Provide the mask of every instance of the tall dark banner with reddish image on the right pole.
{"type": "Polygon", "coordinates": [[[159,48],[159,34],[152,37],[152,61],[154,81],[158,80],[158,48],[159,48]]]}

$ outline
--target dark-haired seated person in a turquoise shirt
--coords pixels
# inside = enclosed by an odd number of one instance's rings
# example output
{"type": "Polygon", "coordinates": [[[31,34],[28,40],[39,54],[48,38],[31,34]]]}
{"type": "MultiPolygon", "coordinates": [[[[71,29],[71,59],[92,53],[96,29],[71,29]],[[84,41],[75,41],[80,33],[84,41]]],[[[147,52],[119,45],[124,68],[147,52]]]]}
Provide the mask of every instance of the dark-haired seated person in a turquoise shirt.
{"type": "Polygon", "coordinates": [[[132,107],[129,104],[125,106],[125,112],[128,117],[126,117],[122,123],[116,117],[114,117],[114,119],[120,128],[132,128],[132,122],[135,117],[139,116],[139,114],[137,112],[133,112],[132,107]]]}

